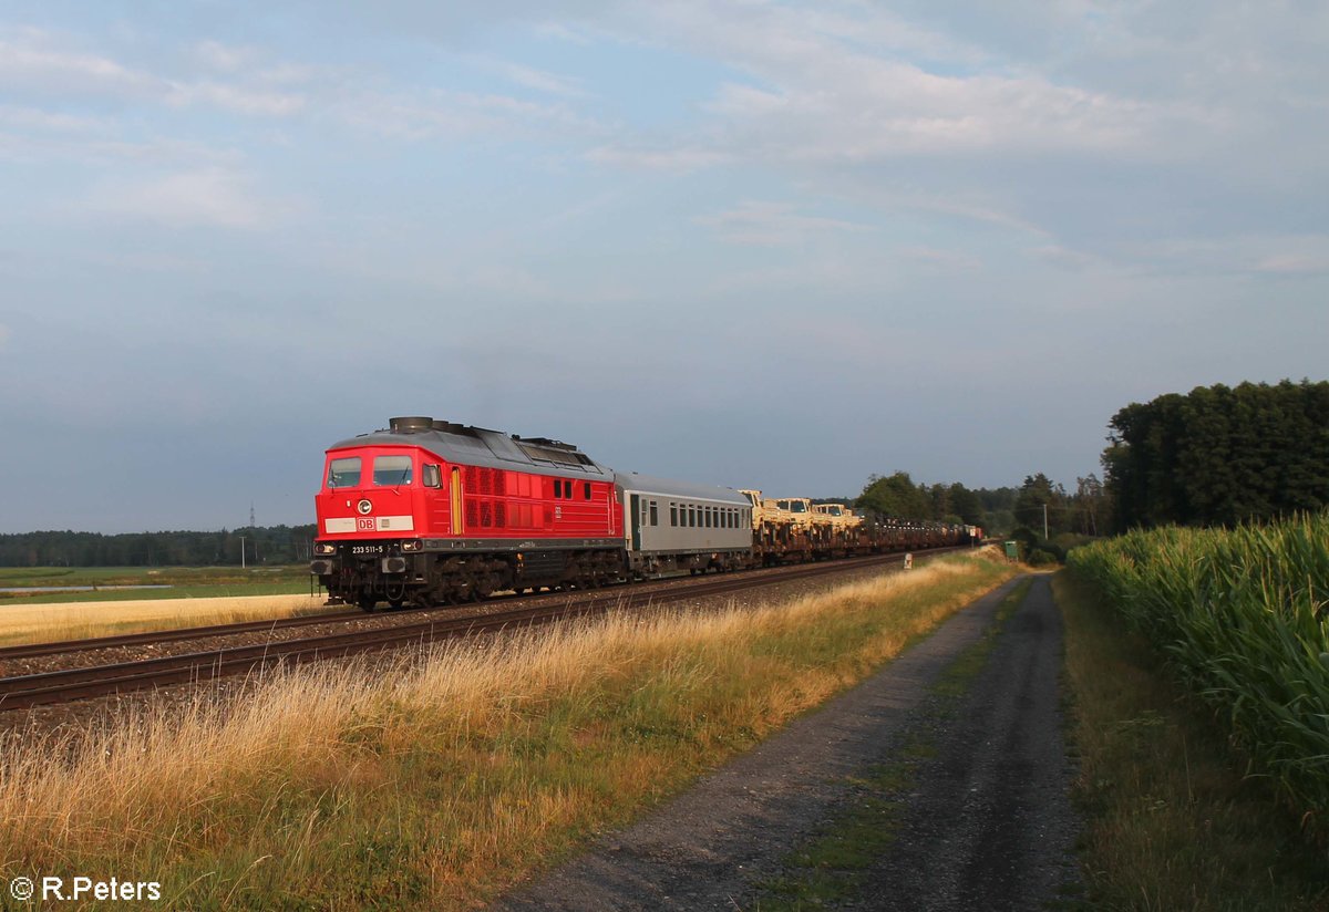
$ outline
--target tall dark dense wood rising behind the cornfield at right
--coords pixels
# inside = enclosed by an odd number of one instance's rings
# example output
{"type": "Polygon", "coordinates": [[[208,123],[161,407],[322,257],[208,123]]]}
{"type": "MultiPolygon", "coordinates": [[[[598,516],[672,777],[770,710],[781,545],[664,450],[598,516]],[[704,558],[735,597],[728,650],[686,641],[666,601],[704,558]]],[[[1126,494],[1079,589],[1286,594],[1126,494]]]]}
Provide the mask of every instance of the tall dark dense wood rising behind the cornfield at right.
{"type": "Polygon", "coordinates": [[[1329,506],[1329,382],[1201,386],[1131,404],[1110,427],[1116,531],[1231,527],[1329,506]]]}

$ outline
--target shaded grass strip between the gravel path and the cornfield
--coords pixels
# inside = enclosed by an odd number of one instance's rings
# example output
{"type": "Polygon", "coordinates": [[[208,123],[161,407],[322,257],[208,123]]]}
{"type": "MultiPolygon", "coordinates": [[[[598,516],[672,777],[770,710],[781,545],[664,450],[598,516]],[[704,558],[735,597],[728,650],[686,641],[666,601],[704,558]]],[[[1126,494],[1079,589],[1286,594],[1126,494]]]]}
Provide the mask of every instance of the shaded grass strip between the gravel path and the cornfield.
{"type": "Polygon", "coordinates": [[[1080,858],[1103,909],[1329,908],[1329,868],[1269,785],[1243,777],[1208,712],[1084,583],[1058,573],[1080,858]]]}

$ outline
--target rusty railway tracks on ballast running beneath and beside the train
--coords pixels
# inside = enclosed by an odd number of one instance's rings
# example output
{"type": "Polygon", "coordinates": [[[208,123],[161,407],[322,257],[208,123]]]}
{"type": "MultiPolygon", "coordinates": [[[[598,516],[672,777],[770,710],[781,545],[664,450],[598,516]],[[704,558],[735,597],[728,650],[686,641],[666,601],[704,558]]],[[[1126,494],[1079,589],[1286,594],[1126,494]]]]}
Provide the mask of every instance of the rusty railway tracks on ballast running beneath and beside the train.
{"type": "MultiPolygon", "coordinates": [[[[938,548],[929,555],[945,554],[956,548],[938,548]]],[[[861,567],[878,564],[902,563],[904,555],[884,555],[861,558],[849,562],[831,562],[819,564],[800,564],[795,567],[781,567],[760,575],[742,573],[734,576],[716,577],[708,583],[694,583],[687,587],[671,589],[653,589],[650,592],[634,592],[633,589],[618,589],[611,593],[589,595],[577,597],[574,601],[561,604],[544,604],[510,611],[494,612],[469,617],[437,617],[429,616],[419,621],[408,621],[393,627],[379,629],[356,629],[339,633],[324,633],[319,636],[275,640],[259,645],[237,645],[209,649],[206,652],[191,652],[175,656],[162,656],[138,661],[114,662],[102,665],[89,665],[84,668],[61,669],[54,672],[41,672],[36,674],[21,674],[0,678],[0,712],[29,709],[48,704],[69,702],[73,700],[88,700],[113,693],[130,693],[152,688],[162,688],[195,681],[210,681],[221,677],[246,674],[255,669],[275,665],[279,662],[303,664],[326,658],[342,658],[384,649],[407,645],[423,645],[448,639],[476,636],[498,631],[510,631],[521,627],[536,627],[558,620],[570,620],[602,615],[615,608],[641,608],[646,605],[662,605],[691,599],[710,599],[731,592],[742,592],[766,585],[788,583],[792,580],[809,579],[840,573],[861,567]]],[[[578,593],[582,595],[582,593],[578,593]]],[[[299,619],[284,619],[290,623],[264,621],[260,624],[227,624],[211,628],[191,628],[189,631],[169,631],[157,635],[130,635],[128,637],[101,637],[100,640],[78,641],[70,644],[48,644],[45,653],[27,654],[57,654],[60,652],[76,652],[110,645],[108,641],[116,640],[114,645],[161,643],[163,640],[198,639],[203,636],[218,636],[225,633],[243,633],[253,631],[275,629],[279,627],[298,627],[303,624],[328,623],[336,620],[363,619],[363,612],[347,612],[343,615],[311,615],[299,619]],[[72,646],[62,649],[58,646],[72,646]]],[[[25,649],[25,646],[12,646],[11,649],[25,649]]],[[[0,657],[12,654],[8,649],[0,650],[0,657]]]]}

